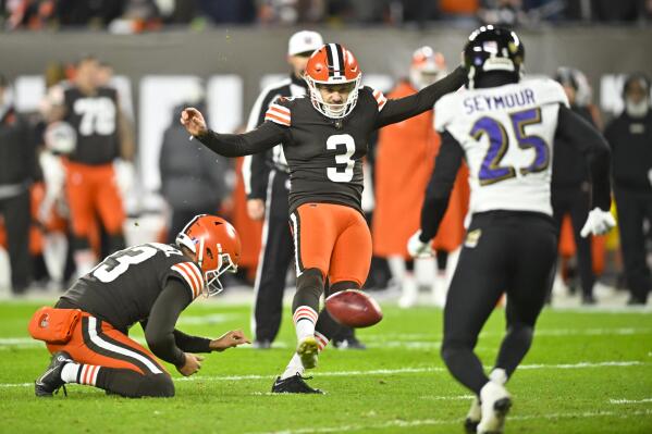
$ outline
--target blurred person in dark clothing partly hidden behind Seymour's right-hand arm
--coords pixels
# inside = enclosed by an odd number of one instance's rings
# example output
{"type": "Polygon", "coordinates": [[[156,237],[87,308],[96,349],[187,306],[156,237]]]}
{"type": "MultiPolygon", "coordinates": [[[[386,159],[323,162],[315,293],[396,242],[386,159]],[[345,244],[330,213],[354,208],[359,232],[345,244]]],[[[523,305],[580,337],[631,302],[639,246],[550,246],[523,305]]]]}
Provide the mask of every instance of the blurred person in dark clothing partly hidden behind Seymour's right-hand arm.
{"type": "MultiPolygon", "coordinates": [[[[583,74],[571,67],[559,67],[555,80],[563,87],[570,110],[585,121],[596,127],[599,120],[593,119],[589,108],[588,83],[583,74]]],[[[589,215],[591,203],[591,181],[589,176],[589,164],[585,156],[568,144],[566,138],[556,137],[554,142],[553,171],[552,171],[552,208],[553,218],[561,232],[562,223],[566,215],[570,215],[573,223],[573,235],[577,246],[577,264],[579,269],[580,284],[582,288],[582,305],[594,305],[593,285],[593,261],[591,255],[592,236],[586,238],[580,231],[589,215]]]]}

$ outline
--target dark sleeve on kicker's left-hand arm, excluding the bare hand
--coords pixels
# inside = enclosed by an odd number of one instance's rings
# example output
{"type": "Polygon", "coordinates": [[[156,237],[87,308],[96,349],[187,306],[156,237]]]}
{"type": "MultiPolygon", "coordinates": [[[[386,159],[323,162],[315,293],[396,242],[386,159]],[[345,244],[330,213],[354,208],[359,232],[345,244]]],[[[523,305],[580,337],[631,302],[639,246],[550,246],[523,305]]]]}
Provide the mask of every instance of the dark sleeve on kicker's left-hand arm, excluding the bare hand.
{"type": "Polygon", "coordinates": [[[208,129],[197,139],[220,156],[243,157],[273,148],[283,141],[286,131],[285,126],[266,122],[245,134],[219,134],[208,129]]]}

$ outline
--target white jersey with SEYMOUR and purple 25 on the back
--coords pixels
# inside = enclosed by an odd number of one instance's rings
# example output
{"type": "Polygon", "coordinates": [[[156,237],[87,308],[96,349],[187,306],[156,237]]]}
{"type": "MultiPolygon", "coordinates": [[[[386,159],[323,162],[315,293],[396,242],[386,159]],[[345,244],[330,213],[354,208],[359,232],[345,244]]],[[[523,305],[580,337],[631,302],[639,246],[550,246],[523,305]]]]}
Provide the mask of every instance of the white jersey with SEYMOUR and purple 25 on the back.
{"type": "Polygon", "coordinates": [[[559,84],[531,79],[465,89],[435,104],[435,129],[462,146],[469,168],[470,213],[533,211],[552,215],[553,141],[559,84]]]}

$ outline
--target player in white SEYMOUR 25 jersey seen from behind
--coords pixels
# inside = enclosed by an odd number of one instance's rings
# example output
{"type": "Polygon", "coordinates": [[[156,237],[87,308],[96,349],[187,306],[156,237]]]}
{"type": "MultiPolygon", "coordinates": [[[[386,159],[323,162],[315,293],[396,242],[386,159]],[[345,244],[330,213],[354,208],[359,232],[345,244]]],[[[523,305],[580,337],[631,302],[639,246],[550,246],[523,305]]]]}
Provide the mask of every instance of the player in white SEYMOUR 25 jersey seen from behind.
{"type": "Polygon", "coordinates": [[[608,212],[605,140],[569,110],[559,84],[520,79],[524,58],[514,32],[487,26],[470,35],[464,51],[468,89],[435,106],[442,146],[426,193],[421,231],[408,241],[413,256],[430,252],[465,158],[472,219],[448,290],[441,352],[453,376],[479,397],[467,417],[468,432],[503,431],[512,404],[504,385],[530,348],[546,296],[556,257],[551,206],[555,138],[591,162],[595,208],[582,236],[615,225],[608,212]],[[503,292],[507,333],[488,377],[473,347],[503,292]]]}

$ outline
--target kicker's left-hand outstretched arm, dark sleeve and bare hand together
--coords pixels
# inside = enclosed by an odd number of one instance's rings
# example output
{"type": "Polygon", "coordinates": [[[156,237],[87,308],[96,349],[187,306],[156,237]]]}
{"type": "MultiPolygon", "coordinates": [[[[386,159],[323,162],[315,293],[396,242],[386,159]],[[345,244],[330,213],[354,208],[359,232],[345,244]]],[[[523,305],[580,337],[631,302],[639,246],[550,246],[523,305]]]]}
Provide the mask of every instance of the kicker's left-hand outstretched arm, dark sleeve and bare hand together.
{"type": "Polygon", "coordinates": [[[181,124],[186,131],[216,153],[224,157],[242,157],[257,153],[283,141],[286,127],[266,122],[245,134],[219,134],[208,128],[197,109],[185,109],[181,124]]]}

